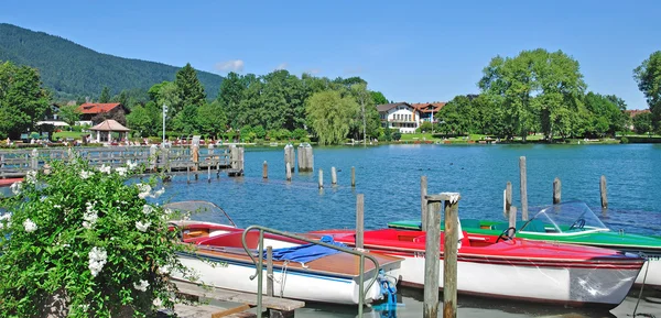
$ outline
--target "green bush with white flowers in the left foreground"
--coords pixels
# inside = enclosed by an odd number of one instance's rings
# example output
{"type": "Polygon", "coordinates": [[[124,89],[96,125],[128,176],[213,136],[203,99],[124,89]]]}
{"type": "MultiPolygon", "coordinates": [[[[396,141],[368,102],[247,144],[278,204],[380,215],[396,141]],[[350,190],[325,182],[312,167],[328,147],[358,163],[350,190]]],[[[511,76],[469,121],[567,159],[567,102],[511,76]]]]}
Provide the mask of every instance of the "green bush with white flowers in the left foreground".
{"type": "MultiPolygon", "coordinates": [[[[177,260],[166,211],[134,184],[134,164],[111,168],[53,162],[0,201],[0,317],[147,317],[178,301],[177,260]],[[1,213],[1,212],[0,212],[1,213]],[[57,315],[54,304],[62,305],[57,315]],[[127,316],[128,315],[128,316],[127,316]]],[[[169,211],[167,211],[169,212],[169,211]]]]}

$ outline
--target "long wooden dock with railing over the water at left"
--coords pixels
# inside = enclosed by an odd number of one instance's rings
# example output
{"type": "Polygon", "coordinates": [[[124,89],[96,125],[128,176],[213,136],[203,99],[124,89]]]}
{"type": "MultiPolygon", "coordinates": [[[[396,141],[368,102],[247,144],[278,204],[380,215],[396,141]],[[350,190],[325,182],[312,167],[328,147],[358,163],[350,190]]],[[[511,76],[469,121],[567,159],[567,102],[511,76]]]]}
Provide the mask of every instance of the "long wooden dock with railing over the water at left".
{"type": "Polygon", "coordinates": [[[93,166],[126,165],[128,161],[144,166],[144,173],[155,172],[227,172],[243,175],[243,149],[234,145],[218,147],[109,146],[32,149],[0,151],[0,179],[22,178],[29,171],[43,169],[48,161],[80,156],[93,166]]]}

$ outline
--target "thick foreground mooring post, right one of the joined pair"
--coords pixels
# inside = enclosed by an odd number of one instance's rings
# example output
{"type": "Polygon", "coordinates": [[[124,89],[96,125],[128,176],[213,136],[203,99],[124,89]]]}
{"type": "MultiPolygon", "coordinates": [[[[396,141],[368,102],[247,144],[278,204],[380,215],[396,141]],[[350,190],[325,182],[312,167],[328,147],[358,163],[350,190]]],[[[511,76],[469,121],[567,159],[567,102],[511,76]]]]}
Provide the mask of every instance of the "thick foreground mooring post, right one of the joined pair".
{"type": "Polygon", "coordinates": [[[445,197],[445,239],[443,244],[443,318],[457,317],[457,252],[459,233],[459,194],[445,197]]]}

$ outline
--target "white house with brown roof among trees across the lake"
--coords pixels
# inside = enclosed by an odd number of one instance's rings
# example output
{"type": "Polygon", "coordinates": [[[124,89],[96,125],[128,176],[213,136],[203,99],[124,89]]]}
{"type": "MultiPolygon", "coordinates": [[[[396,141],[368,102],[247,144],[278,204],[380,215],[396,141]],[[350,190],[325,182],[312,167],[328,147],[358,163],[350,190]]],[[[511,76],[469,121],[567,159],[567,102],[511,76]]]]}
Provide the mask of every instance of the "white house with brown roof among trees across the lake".
{"type": "Polygon", "coordinates": [[[420,111],[408,102],[377,105],[383,128],[399,129],[401,133],[414,133],[422,123],[420,111]]]}

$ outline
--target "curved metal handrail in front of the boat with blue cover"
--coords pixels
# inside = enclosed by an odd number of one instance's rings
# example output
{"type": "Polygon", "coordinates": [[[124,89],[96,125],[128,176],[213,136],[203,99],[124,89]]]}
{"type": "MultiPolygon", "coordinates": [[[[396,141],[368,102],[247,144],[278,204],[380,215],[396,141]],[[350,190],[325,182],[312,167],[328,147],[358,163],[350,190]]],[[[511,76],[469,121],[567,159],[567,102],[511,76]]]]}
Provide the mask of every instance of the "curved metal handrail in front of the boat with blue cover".
{"type": "Polygon", "coordinates": [[[355,250],[351,250],[348,248],[337,246],[337,245],[324,243],[321,241],[311,240],[307,238],[290,234],[286,232],[278,231],[278,230],[261,227],[261,226],[250,226],[250,227],[246,228],[246,230],[243,230],[243,234],[241,235],[241,243],[243,244],[243,250],[246,250],[246,253],[250,256],[250,259],[252,260],[252,262],[254,263],[254,265],[257,267],[254,275],[251,275],[250,279],[254,279],[254,277],[257,277],[257,312],[258,312],[258,315],[261,315],[261,312],[262,312],[262,282],[263,282],[262,275],[263,275],[263,261],[264,261],[264,232],[294,239],[294,240],[304,241],[304,242],[316,244],[316,245],[322,245],[322,246],[325,246],[328,249],[333,249],[336,251],[340,251],[344,253],[359,256],[360,264],[359,264],[358,270],[360,271],[360,274],[359,274],[359,278],[358,278],[358,284],[359,284],[359,286],[358,286],[358,290],[359,290],[358,315],[359,316],[358,317],[362,317],[365,293],[366,293],[366,290],[369,290],[369,288],[371,288],[375,285],[375,283],[378,279],[378,276],[379,276],[379,271],[380,271],[379,261],[377,261],[377,259],[375,256],[368,255],[362,252],[358,252],[358,251],[355,251],[355,250]],[[248,249],[248,244],[246,243],[246,235],[248,234],[248,232],[250,232],[252,230],[259,230],[258,260],[254,260],[254,256],[252,255],[250,249],[248,249]],[[362,285],[365,285],[365,259],[366,257],[368,260],[370,260],[372,263],[375,263],[375,277],[369,282],[369,284],[367,284],[367,288],[364,288],[362,285]]]}

